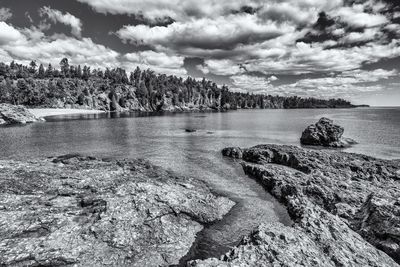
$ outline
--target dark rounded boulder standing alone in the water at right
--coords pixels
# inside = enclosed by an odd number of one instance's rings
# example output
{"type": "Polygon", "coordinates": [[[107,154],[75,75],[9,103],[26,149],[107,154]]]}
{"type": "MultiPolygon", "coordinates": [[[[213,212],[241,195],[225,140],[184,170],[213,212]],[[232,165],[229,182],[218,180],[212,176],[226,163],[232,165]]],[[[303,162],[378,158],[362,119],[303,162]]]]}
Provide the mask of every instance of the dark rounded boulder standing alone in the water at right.
{"type": "Polygon", "coordinates": [[[356,143],[350,138],[342,137],[343,133],[343,127],[333,124],[331,119],[321,118],[303,131],[300,142],[303,145],[340,148],[356,143]]]}

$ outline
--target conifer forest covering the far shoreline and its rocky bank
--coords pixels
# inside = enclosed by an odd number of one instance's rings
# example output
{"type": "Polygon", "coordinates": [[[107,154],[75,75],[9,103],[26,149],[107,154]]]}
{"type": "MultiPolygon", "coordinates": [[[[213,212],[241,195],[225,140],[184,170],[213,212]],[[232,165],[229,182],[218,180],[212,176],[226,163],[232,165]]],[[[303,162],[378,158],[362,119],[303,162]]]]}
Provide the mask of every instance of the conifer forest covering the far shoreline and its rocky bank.
{"type": "Polygon", "coordinates": [[[267,108],[353,107],[343,99],[283,97],[231,92],[227,86],[188,77],[157,74],[137,67],[105,70],[69,64],[29,66],[0,63],[0,103],[29,107],[105,111],[190,111],[267,108]]]}

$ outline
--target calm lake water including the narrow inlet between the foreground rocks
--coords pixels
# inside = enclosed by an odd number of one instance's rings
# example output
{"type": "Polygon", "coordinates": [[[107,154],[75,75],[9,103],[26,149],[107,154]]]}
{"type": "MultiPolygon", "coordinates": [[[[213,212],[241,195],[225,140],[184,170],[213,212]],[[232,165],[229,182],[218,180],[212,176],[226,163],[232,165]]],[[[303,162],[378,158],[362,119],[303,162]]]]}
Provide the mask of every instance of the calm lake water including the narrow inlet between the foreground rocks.
{"type": "Polygon", "coordinates": [[[299,145],[302,130],[321,116],[344,126],[359,142],[346,151],[400,158],[400,109],[245,110],[167,116],[85,115],[48,118],[46,123],[0,128],[1,158],[37,158],[82,153],[146,158],[197,177],[238,204],[223,221],[208,226],[191,257],[218,256],[262,222],[290,223],[284,208],[222,148],[262,143],[299,145]],[[111,117],[112,116],[112,117],[111,117]],[[197,129],[186,133],[185,128],[197,129]]]}

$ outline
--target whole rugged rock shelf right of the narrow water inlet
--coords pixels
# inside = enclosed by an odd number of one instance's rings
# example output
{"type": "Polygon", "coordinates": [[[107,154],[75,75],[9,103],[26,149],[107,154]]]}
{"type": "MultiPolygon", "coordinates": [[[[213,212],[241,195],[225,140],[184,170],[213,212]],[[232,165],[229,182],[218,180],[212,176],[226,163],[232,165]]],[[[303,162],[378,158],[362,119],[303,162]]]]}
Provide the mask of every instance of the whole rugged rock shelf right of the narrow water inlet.
{"type": "Polygon", "coordinates": [[[221,259],[192,266],[398,266],[399,162],[277,145],[224,154],[242,159],[294,225],[261,225],[221,259]]]}

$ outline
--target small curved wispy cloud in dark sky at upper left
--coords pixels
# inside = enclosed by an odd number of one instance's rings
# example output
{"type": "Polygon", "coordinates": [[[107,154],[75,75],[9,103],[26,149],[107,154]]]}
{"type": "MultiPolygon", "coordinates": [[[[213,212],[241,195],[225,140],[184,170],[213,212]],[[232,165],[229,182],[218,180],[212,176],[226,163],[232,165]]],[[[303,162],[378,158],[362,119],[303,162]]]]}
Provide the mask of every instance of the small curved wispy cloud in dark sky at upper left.
{"type": "Polygon", "coordinates": [[[70,13],[63,14],[57,9],[51,9],[50,7],[42,7],[39,9],[41,17],[47,16],[53,23],[59,22],[64,25],[71,27],[71,33],[76,37],[81,37],[82,34],[82,22],[79,18],[71,15],[70,13]]]}

